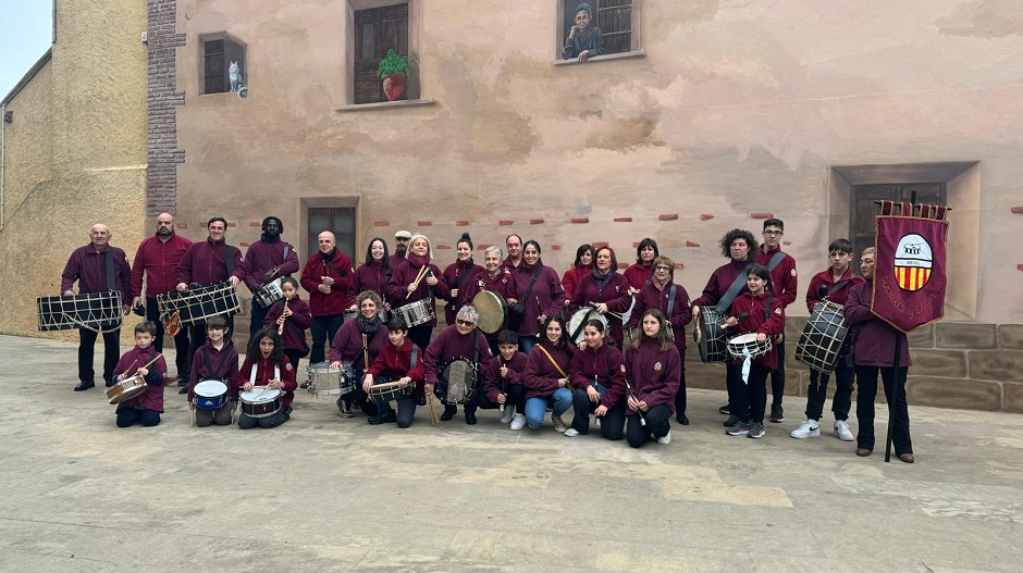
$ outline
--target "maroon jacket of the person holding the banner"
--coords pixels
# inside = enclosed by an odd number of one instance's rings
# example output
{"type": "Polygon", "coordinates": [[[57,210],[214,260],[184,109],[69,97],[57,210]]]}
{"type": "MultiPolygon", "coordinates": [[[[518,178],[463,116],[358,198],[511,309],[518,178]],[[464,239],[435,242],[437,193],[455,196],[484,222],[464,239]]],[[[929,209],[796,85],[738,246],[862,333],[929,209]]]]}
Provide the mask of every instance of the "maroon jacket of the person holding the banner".
{"type": "Polygon", "coordinates": [[[899,345],[899,366],[909,368],[910,344],[905,333],[896,329],[871,312],[874,301],[874,281],[867,279],[849,289],[846,300],[846,322],[850,325],[852,361],[858,366],[888,366],[895,362],[895,344],[899,345]]]}

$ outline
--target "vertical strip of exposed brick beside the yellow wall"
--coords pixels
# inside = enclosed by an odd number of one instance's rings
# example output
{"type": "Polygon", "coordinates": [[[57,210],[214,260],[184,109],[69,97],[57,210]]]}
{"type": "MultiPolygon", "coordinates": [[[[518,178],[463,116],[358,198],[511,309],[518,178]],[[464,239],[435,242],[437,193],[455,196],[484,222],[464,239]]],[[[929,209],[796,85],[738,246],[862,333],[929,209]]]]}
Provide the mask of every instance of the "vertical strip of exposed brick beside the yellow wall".
{"type": "Polygon", "coordinates": [[[177,149],[175,107],[185,103],[177,91],[175,49],[185,45],[176,34],[177,0],[148,0],[149,9],[149,122],[148,169],[146,171],[146,214],[177,210],[177,164],[185,152],[177,149]]]}

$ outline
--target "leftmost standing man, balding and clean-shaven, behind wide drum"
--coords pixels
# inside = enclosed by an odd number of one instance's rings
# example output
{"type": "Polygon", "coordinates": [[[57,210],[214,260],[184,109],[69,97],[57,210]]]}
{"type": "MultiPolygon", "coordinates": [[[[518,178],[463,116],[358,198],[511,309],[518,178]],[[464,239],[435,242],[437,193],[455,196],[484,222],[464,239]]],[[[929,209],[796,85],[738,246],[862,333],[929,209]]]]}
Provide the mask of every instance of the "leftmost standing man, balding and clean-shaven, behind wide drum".
{"type": "MultiPolygon", "coordinates": [[[[132,267],[124,251],[110,246],[110,227],[102,223],[93,225],[89,231],[89,244],[78,247],[71,253],[64,272],[61,273],[60,290],[64,295],[74,295],[72,289],[78,283],[78,294],[107,292],[119,290],[123,302],[123,312],[131,307],[132,267]]],[[[78,328],[78,384],[75,391],[87,390],[96,386],[93,370],[93,353],[96,349],[97,333],[88,328],[78,328]]],[[[103,333],[103,382],[113,385],[113,369],[121,358],[121,328],[103,333]]]]}

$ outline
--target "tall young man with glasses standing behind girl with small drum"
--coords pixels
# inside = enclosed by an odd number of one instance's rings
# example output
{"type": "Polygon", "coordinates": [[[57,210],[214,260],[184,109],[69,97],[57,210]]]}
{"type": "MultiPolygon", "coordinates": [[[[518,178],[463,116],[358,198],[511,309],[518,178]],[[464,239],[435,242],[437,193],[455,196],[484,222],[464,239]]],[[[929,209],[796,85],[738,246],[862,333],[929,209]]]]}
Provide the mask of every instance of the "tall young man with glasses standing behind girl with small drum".
{"type": "MultiPolygon", "coordinates": [[[[771,271],[771,285],[775,296],[781,301],[781,310],[796,302],[799,295],[796,276],[796,259],[781,251],[781,236],[785,223],[780,219],[764,220],[764,244],[756,250],[755,261],[771,271]]],[[[785,422],[781,398],[785,396],[785,334],[775,347],[778,352],[778,368],[771,373],[771,421],[785,422]]]]}

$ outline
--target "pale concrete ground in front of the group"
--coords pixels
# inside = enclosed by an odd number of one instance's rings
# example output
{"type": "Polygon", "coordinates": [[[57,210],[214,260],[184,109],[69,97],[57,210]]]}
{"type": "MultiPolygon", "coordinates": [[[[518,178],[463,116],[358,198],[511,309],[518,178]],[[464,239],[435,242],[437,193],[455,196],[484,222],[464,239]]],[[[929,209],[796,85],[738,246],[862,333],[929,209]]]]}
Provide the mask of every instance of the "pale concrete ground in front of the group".
{"type": "Polygon", "coordinates": [[[712,390],[639,450],[494,412],[369,426],[307,394],[274,429],[198,429],[177,388],[119,429],[71,390],[75,345],[0,356],[4,572],[1023,571],[1019,415],[911,407],[913,465],[790,438],[794,397],[765,438],[726,436],[712,390]]]}

